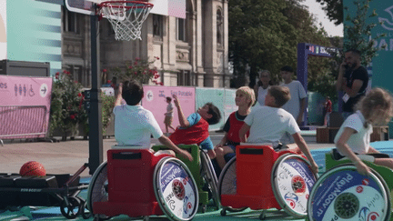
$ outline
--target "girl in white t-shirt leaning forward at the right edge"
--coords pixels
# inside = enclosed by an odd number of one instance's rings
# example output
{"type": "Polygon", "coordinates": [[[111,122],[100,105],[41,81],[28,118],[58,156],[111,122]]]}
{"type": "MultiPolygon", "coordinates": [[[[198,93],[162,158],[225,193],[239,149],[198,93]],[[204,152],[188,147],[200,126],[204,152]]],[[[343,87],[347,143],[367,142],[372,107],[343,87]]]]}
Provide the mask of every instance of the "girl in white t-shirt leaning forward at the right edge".
{"type": "Polygon", "coordinates": [[[379,152],[369,144],[372,127],[387,125],[393,116],[392,95],[384,89],[374,88],[358,101],[355,108],[358,111],[348,116],[335,137],[338,155],[347,156],[361,175],[369,175],[370,169],[357,155],[370,155],[368,158],[374,164],[393,169],[393,159],[372,157],[379,152]]]}

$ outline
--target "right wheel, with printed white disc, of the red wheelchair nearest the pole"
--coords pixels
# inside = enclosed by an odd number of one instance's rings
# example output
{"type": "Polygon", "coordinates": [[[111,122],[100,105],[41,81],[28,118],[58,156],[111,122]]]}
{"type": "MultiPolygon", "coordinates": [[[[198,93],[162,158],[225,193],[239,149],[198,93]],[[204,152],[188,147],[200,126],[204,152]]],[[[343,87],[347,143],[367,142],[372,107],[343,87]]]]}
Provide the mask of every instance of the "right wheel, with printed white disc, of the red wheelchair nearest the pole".
{"type": "Polygon", "coordinates": [[[170,220],[191,220],[196,215],[196,182],[183,162],[174,157],[162,158],[155,167],[153,183],[156,200],[170,220]]]}

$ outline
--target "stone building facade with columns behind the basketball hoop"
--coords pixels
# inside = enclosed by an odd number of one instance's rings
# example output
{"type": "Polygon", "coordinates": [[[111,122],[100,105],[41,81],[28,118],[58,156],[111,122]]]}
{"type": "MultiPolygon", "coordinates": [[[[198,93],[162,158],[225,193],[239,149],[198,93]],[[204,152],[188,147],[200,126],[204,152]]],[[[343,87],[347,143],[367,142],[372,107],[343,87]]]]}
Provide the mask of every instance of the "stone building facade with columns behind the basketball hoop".
{"type": "MultiPolygon", "coordinates": [[[[63,68],[84,86],[91,85],[90,16],[63,7],[63,68]]],[[[99,22],[99,70],[126,67],[136,57],[150,60],[167,86],[229,87],[227,0],[186,0],[186,19],[150,14],[142,40],[116,41],[106,19],[99,22]]],[[[101,73],[102,74],[102,73],[101,73]]],[[[105,83],[104,83],[105,84],[105,83]]]]}

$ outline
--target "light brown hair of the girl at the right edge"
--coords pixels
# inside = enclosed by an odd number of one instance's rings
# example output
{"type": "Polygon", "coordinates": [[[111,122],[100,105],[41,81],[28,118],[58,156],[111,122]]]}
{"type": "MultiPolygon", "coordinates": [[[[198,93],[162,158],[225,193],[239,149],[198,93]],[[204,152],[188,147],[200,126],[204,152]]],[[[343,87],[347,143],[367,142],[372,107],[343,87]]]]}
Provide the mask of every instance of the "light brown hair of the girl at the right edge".
{"type": "Polygon", "coordinates": [[[385,118],[385,124],[388,124],[393,116],[393,98],[387,90],[376,87],[358,101],[355,109],[362,113],[366,121],[378,115],[385,118]]]}

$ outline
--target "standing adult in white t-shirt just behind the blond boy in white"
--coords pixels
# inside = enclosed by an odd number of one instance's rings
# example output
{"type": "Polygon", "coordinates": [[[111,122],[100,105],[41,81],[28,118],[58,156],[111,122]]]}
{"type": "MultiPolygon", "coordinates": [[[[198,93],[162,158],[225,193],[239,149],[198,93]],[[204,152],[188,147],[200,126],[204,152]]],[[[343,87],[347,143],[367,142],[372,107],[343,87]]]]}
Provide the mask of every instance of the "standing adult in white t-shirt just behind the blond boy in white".
{"type": "MultiPolygon", "coordinates": [[[[284,80],[284,83],[281,84],[281,86],[287,86],[291,95],[291,99],[287,102],[287,104],[283,105],[282,108],[289,112],[295,118],[297,126],[300,126],[303,121],[303,113],[306,110],[307,105],[306,91],[299,81],[292,79],[294,70],[291,66],[283,66],[280,69],[280,75],[284,80]]],[[[293,143],[292,136],[286,133],[281,138],[281,142],[283,144],[293,143]]]]}

